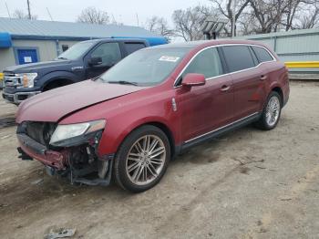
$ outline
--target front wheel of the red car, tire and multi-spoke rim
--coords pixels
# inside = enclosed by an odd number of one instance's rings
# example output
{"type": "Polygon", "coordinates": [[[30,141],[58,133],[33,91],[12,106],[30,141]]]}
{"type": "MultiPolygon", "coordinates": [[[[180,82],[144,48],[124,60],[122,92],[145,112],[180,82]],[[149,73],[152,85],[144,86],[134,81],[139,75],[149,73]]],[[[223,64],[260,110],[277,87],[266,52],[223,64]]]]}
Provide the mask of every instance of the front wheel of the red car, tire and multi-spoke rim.
{"type": "Polygon", "coordinates": [[[142,126],[132,131],[119,147],[114,163],[115,180],[125,190],[144,192],[160,182],[169,161],[170,141],[166,134],[157,127],[142,126]]]}

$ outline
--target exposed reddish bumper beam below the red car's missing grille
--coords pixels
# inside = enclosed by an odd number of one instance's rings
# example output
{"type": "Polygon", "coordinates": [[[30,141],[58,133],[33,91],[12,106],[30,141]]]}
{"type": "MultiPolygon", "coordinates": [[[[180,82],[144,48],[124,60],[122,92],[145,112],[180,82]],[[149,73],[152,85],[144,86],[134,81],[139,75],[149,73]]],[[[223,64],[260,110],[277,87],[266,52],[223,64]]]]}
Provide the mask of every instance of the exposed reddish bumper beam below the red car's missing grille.
{"type": "Polygon", "coordinates": [[[16,137],[21,150],[26,152],[31,158],[57,170],[66,169],[67,151],[50,151],[45,145],[36,142],[36,140],[31,139],[23,133],[17,134],[16,137]]]}

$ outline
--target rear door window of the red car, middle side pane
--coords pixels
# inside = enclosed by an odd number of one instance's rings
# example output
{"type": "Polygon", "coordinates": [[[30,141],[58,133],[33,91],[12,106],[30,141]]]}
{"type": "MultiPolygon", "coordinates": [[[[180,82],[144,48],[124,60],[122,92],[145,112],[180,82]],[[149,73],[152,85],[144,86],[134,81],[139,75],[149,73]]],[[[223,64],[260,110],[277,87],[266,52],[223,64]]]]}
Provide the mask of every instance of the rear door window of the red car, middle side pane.
{"type": "Polygon", "coordinates": [[[222,49],[230,72],[255,67],[249,47],[227,46],[222,49]]]}

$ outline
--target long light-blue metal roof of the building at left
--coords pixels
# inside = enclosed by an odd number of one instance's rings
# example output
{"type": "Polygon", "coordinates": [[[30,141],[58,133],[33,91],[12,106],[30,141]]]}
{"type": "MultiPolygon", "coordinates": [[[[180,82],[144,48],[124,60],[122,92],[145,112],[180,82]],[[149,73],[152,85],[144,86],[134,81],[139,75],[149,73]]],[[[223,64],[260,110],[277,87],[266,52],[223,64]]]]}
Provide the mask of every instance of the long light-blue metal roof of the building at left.
{"type": "Polygon", "coordinates": [[[0,32],[12,38],[78,38],[105,37],[157,37],[139,26],[95,25],[85,23],[54,22],[0,17],[0,32]]]}

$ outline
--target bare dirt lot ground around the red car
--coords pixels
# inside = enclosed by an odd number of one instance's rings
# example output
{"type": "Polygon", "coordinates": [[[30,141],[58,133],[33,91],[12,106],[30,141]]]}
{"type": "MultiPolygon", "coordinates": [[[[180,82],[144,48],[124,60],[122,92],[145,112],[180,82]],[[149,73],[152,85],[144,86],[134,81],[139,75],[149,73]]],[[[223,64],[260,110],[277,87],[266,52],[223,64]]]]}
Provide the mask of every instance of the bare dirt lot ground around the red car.
{"type": "Polygon", "coordinates": [[[170,163],[139,194],[74,186],[17,159],[14,106],[0,101],[0,237],[319,238],[319,84],[292,83],[275,130],[252,127],[170,163]]]}

